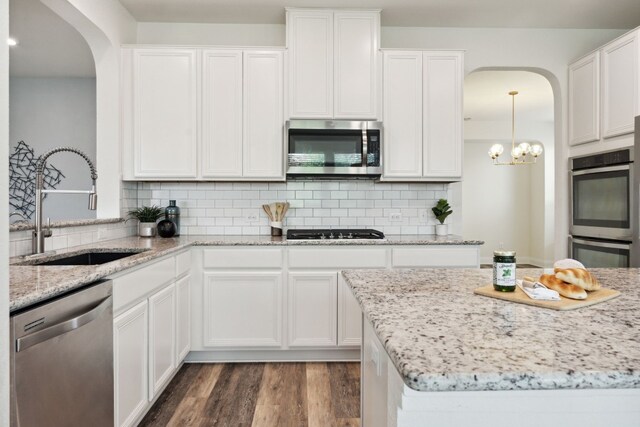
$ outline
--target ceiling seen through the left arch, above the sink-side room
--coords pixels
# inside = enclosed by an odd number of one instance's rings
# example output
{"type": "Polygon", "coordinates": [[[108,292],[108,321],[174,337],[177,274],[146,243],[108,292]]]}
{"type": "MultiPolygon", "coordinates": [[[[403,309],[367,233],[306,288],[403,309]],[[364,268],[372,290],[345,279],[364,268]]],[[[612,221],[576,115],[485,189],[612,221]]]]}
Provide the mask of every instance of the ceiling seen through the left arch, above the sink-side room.
{"type": "Polygon", "coordinates": [[[95,77],[87,42],[40,0],[10,0],[9,35],[12,77],[95,77]]]}

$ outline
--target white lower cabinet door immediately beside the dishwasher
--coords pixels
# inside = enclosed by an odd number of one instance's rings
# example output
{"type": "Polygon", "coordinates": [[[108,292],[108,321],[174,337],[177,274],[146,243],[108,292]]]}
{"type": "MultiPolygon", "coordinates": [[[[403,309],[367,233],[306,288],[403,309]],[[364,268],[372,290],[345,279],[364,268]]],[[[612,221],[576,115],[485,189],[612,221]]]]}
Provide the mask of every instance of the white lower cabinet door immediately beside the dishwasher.
{"type": "Polygon", "coordinates": [[[113,320],[116,426],[130,426],[147,406],[147,301],[113,320]]]}

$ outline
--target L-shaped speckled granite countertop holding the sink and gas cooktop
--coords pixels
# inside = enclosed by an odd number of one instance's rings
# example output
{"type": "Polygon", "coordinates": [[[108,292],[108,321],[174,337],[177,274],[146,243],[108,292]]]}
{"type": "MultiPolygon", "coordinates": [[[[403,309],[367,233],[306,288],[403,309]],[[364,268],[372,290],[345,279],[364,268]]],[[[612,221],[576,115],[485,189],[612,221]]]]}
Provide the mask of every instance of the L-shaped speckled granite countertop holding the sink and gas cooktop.
{"type": "Polygon", "coordinates": [[[60,258],[75,253],[92,251],[132,251],[137,253],[127,258],[93,266],[34,266],[15,265],[28,262],[32,257],[15,257],[9,267],[9,309],[14,312],[41,301],[62,295],[96,280],[122,270],[149,262],[155,258],[185,249],[190,246],[317,246],[317,245],[481,245],[479,240],[465,240],[459,236],[387,236],[386,240],[287,240],[271,236],[181,236],[170,239],[126,237],[77,246],[38,256],[60,258]]]}

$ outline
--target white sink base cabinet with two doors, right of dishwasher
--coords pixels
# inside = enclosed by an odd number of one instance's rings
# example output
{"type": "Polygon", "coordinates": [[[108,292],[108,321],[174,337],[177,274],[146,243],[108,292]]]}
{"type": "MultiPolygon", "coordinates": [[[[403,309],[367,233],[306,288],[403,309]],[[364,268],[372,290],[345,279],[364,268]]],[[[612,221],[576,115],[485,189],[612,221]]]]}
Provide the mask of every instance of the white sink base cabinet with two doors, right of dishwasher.
{"type": "Polygon", "coordinates": [[[184,251],[111,277],[117,427],[140,421],[191,350],[189,270],[184,251]]]}

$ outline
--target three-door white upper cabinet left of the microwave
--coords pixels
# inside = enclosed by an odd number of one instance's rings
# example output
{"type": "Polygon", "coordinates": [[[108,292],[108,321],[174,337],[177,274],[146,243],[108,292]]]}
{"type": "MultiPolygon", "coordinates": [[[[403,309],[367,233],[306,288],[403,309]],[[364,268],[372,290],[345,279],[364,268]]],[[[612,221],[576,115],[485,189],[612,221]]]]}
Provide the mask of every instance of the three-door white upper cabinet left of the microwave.
{"type": "Polygon", "coordinates": [[[284,50],[125,47],[123,178],[284,180],[284,50]]]}

